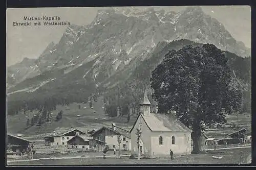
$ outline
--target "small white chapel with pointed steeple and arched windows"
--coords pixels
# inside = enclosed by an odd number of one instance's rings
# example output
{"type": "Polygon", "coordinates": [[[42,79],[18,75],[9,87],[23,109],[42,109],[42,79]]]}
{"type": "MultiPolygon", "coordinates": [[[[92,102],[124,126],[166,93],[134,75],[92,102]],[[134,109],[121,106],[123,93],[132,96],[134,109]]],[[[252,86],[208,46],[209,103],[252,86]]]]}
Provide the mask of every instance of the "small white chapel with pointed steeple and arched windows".
{"type": "Polygon", "coordinates": [[[155,114],[150,112],[150,101],[146,88],[140,104],[138,115],[131,129],[132,153],[138,153],[137,130],[140,129],[140,156],[169,156],[170,149],[174,154],[191,153],[191,131],[172,114],[155,114]]]}

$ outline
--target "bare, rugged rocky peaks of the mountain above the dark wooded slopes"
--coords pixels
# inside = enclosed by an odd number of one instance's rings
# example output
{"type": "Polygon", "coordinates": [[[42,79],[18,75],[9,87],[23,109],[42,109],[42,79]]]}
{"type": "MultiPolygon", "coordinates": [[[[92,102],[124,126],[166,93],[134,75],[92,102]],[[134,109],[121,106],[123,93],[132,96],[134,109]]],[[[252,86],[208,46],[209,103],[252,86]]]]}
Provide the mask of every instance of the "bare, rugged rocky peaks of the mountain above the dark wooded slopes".
{"type": "MultiPolygon", "coordinates": [[[[89,25],[67,27],[60,41],[51,42],[37,59],[38,68],[31,63],[23,72],[28,77],[31,73],[35,75],[35,71],[38,74],[53,68],[73,70],[95,60],[93,66],[97,66],[94,69],[97,72],[93,72],[93,77],[97,81],[100,74],[105,76],[106,72],[109,77],[130,63],[143,61],[160,41],[177,39],[212,43],[221,50],[249,56],[245,45],[232,38],[224,26],[206,15],[201,7],[188,7],[179,13],[154,8],[104,7],[89,25]]],[[[20,71],[20,77],[23,72],[20,71]]]]}

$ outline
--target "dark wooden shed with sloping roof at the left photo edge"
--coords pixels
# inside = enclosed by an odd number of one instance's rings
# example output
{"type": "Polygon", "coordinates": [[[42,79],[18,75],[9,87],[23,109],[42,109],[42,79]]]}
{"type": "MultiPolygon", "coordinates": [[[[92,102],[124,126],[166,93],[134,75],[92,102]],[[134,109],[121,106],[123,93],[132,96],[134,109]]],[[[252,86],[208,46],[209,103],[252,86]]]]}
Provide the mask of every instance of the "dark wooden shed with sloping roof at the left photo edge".
{"type": "Polygon", "coordinates": [[[34,142],[18,136],[7,135],[7,149],[12,152],[27,152],[32,143],[34,142]]]}

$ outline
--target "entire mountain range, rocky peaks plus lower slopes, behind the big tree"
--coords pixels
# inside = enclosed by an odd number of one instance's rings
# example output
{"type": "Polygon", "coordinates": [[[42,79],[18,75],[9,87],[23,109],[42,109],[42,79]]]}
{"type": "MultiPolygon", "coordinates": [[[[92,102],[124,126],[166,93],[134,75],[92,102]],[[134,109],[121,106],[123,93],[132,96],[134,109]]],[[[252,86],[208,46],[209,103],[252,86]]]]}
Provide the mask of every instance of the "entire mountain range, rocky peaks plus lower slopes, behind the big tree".
{"type": "Polygon", "coordinates": [[[83,94],[86,99],[99,91],[112,101],[117,101],[117,93],[118,99],[139,99],[141,84],[149,81],[150,71],[168,50],[203,43],[226,52],[234,82],[250,91],[250,49],[200,7],[178,13],[109,7],[99,10],[87,26],[69,26],[60,41],[51,42],[38,59],[25,58],[8,67],[8,107],[17,101],[22,107],[24,101],[53,96],[74,101],[72,95],[83,94]]]}

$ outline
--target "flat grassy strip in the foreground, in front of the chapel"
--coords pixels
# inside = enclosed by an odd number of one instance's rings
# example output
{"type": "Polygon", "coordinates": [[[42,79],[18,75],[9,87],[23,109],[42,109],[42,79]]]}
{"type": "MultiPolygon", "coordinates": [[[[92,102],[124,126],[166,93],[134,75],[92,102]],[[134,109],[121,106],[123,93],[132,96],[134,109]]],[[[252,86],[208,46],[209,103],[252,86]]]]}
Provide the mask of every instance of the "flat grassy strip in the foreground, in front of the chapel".
{"type": "Polygon", "coordinates": [[[208,164],[208,163],[231,163],[246,162],[251,155],[251,148],[221,150],[222,153],[202,153],[196,155],[176,156],[158,159],[130,159],[129,157],[118,158],[76,158],[76,159],[43,159],[35,161],[9,162],[8,165],[104,165],[104,164],[208,164]],[[241,153],[243,158],[241,159],[241,153]],[[221,159],[212,156],[222,157],[221,159]]]}

